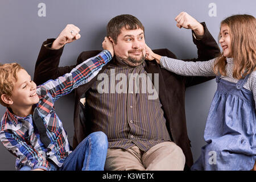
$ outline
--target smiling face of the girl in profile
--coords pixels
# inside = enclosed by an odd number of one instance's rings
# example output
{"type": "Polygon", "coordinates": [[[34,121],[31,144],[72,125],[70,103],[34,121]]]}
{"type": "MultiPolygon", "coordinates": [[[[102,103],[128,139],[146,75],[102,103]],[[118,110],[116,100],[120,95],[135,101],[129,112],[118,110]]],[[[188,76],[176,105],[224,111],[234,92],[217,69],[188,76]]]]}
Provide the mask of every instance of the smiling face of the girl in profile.
{"type": "Polygon", "coordinates": [[[229,27],[226,24],[222,24],[221,26],[219,42],[223,50],[223,55],[225,57],[232,57],[230,31],[229,27]]]}

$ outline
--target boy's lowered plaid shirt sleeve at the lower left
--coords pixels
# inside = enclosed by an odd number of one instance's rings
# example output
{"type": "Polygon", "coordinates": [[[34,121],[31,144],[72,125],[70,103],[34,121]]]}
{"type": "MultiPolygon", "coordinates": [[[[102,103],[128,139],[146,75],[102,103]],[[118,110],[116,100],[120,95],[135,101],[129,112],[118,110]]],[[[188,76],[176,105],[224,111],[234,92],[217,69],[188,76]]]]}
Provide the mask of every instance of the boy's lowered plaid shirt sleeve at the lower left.
{"type": "Polygon", "coordinates": [[[21,165],[30,166],[32,169],[49,170],[50,166],[46,158],[14,133],[2,130],[0,140],[9,152],[19,159],[21,165]]]}

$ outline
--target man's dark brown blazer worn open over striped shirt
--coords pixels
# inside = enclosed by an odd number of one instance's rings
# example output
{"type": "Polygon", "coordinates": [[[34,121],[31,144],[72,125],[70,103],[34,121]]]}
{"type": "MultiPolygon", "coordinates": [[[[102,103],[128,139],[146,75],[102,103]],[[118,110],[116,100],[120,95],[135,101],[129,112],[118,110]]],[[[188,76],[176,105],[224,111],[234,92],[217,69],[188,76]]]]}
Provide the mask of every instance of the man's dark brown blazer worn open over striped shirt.
{"type": "MultiPolygon", "coordinates": [[[[220,54],[220,49],[216,41],[210,35],[207,27],[202,23],[205,28],[205,35],[203,39],[193,42],[197,46],[197,59],[192,61],[206,61],[217,57],[220,54]]],[[[58,50],[51,50],[44,45],[52,43],[54,39],[48,39],[43,43],[40,50],[38,60],[35,65],[34,81],[37,85],[46,82],[49,79],[55,79],[71,71],[75,65],[70,67],[59,67],[59,61],[63,48],[58,50]]],[[[174,53],[168,49],[155,49],[155,53],[162,56],[176,58],[174,53]]],[[[100,51],[84,51],[78,59],[77,64],[96,56],[100,51]]],[[[166,118],[166,125],[171,139],[181,147],[186,158],[186,167],[191,167],[193,164],[190,140],[187,134],[187,125],[185,119],[185,89],[188,86],[200,84],[201,82],[208,81],[214,77],[188,77],[179,76],[175,73],[169,72],[166,69],[160,68],[156,61],[145,61],[146,66],[144,69],[147,73],[159,73],[159,99],[166,118]]],[[[109,63],[105,65],[100,73],[102,73],[109,63]]],[[[90,113],[86,109],[86,105],[82,105],[80,98],[86,97],[86,92],[91,88],[93,83],[97,80],[97,76],[90,82],[79,86],[75,89],[75,113],[74,113],[74,127],[75,135],[73,137],[73,148],[75,148],[89,133],[90,133],[90,113]]],[[[154,84],[154,80],[152,80],[154,84]]]]}

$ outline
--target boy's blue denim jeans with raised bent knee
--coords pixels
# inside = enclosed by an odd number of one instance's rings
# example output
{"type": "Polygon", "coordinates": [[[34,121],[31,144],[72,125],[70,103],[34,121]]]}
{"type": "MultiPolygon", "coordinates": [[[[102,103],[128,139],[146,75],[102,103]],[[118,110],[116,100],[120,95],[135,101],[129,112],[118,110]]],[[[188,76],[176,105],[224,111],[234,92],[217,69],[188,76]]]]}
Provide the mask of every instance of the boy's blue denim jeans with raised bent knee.
{"type": "MultiPolygon", "coordinates": [[[[69,154],[63,166],[57,167],[53,162],[50,171],[103,171],[106,154],[108,151],[108,139],[106,135],[97,131],[91,133],[69,154]]],[[[23,166],[20,171],[28,171],[32,168],[23,166]]]]}

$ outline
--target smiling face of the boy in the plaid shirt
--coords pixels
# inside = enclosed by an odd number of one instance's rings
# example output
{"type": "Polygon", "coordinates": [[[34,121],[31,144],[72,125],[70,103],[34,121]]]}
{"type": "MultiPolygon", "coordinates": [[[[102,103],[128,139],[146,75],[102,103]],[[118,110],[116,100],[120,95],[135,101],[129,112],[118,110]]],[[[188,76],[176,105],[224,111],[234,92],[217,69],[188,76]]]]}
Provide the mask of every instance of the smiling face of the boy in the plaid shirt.
{"type": "Polygon", "coordinates": [[[14,82],[12,96],[10,97],[13,104],[10,107],[27,108],[39,102],[38,94],[36,94],[36,84],[31,80],[26,70],[20,69],[17,72],[18,80],[14,82]]]}

